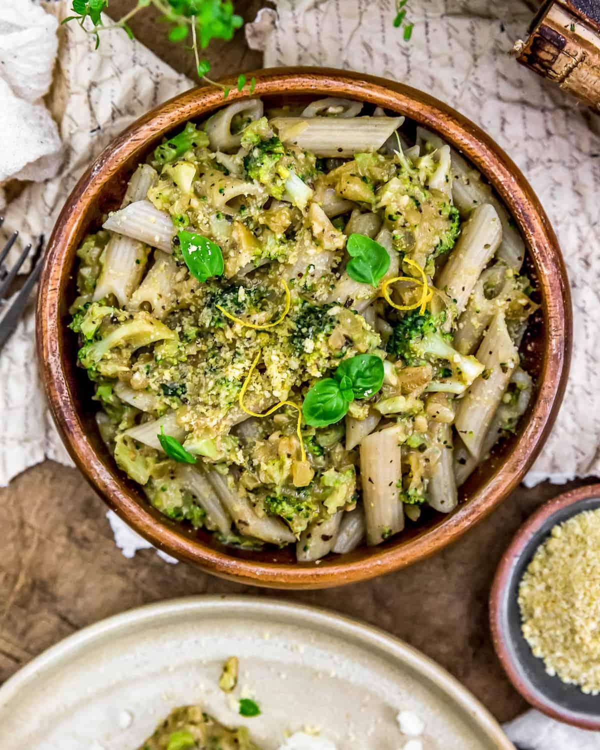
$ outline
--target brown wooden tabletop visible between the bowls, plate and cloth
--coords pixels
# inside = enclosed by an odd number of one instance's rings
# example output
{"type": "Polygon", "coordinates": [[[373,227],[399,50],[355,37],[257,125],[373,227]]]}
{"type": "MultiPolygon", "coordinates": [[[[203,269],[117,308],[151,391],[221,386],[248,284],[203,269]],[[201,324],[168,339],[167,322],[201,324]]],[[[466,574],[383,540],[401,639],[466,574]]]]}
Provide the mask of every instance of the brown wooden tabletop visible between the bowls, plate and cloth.
{"type": "MultiPolygon", "coordinates": [[[[253,20],[261,0],[237,0],[253,20]]],[[[111,0],[118,17],[130,0],[111,0]]],[[[193,76],[184,49],[140,13],[137,37],[193,76]]],[[[215,77],[248,71],[260,55],[243,34],[209,50],[215,77]]],[[[276,592],[227,583],[189,565],[169,565],[152,550],[125,559],[115,547],[107,508],[75,469],[52,461],[0,490],[0,682],[34,655],[103,617],[165,598],[248,593],[317,604],[359,617],[422,649],[460,679],[500,720],[526,705],[512,689],[490,643],[487,595],[502,551],[520,523],[565,487],[520,487],[501,508],[433,559],[378,580],[314,592],[276,592]]]]}

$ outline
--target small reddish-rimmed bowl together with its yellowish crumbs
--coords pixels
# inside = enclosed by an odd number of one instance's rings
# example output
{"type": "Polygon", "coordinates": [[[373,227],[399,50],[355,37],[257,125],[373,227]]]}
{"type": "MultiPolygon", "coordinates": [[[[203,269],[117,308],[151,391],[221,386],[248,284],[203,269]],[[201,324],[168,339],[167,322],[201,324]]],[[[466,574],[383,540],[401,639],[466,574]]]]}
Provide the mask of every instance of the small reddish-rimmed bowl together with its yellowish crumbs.
{"type": "Polygon", "coordinates": [[[493,644],[514,688],[589,730],[600,730],[598,535],[600,484],[559,495],[520,527],[490,592],[493,644]]]}

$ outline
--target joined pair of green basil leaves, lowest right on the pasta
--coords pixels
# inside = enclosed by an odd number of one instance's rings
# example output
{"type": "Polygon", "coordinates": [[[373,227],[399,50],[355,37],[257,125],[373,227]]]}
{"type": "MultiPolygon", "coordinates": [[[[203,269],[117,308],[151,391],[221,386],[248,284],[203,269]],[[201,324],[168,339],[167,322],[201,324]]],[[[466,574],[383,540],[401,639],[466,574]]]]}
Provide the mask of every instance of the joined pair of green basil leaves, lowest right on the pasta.
{"type": "Polygon", "coordinates": [[[369,398],[383,385],[383,362],[374,354],[344,359],[333,377],[317,380],[308,390],[302,413],[311,427],[339,422],[355,398],[369,398]]]}

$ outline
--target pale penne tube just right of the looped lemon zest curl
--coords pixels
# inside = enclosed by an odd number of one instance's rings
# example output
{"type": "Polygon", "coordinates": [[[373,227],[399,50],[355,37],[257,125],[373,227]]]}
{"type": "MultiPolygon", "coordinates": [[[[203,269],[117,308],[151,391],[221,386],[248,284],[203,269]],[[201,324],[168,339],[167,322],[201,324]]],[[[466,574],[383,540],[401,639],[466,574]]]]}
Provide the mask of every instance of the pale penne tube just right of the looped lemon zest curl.
{"type": "Polygon", "coordinates": [[[502,228],[495,208],[487,203],[475,208],[437,282],[437,286],[452,299],[446,319],[447,329],[466,308],[473,287],[501,239],[502,228]]]}

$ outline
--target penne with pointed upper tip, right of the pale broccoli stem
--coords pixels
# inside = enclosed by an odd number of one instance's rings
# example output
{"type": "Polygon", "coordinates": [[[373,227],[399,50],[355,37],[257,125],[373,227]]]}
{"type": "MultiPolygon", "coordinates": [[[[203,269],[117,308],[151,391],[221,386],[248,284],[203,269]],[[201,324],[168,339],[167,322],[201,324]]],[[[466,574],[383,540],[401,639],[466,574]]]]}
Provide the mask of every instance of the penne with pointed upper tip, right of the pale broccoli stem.
{"type": "Polygon", "coordinates": [[[485,371],[460,400],[455,424],[466,448],[478,459],[493,415],[519,362],[519,353],[508,335],[502,313],[493,317],[476,359],[484,365],[485,371]]]}

